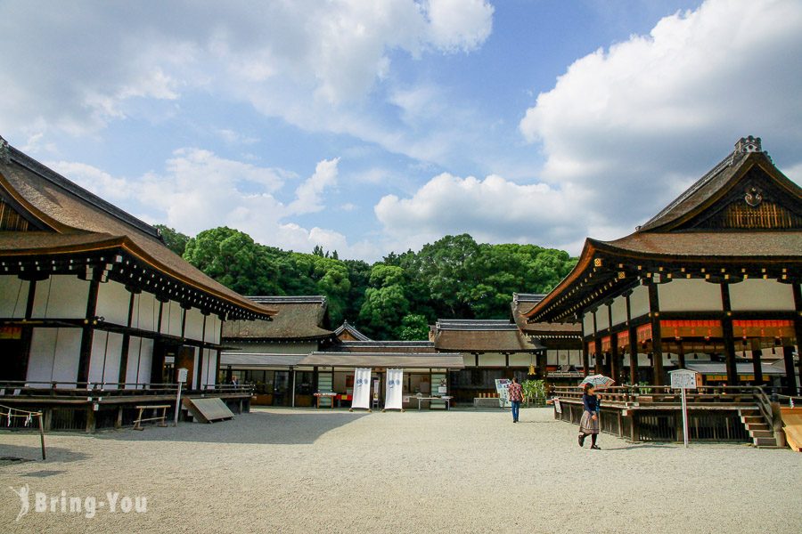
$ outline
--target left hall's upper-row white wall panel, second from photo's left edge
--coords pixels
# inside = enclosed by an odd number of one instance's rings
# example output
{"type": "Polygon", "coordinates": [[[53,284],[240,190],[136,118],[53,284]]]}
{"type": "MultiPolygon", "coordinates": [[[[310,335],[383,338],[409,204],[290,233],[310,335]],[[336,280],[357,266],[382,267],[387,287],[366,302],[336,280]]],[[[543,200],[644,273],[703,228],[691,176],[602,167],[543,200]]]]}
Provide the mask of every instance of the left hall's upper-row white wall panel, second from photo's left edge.
{"type": "Polygon", "coordinates": [[[53,275],[38,281],[33,317],[83,319],[88,295],[89,282],[70,274],[53,275]]]}

